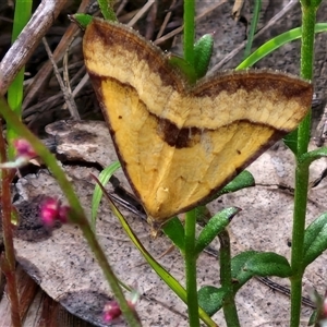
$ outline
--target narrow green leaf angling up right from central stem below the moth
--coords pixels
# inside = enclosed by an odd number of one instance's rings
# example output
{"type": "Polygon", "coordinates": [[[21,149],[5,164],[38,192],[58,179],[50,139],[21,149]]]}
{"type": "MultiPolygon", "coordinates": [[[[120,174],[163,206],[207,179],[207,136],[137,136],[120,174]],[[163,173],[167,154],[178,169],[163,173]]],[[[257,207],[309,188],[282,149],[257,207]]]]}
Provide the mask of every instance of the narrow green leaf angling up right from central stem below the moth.
{"type": "Polygon", "coordinates": [[[229,225],[240,208],[230,207],[216,214],[201,231],[195,244],[197,255],[229,225]]]}

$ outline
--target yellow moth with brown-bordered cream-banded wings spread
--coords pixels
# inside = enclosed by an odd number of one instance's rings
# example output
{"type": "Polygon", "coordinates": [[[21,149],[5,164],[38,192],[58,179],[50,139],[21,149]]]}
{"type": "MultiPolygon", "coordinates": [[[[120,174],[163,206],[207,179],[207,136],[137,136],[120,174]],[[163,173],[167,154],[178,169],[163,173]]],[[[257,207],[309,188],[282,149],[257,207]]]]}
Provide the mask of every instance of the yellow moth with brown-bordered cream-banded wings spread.
{"type": "Polygon", "coordinates": [[[133,29],[94,19],[85,64],[117,155],[156,230],[204,204],[293,131],[313,87],[271,70],[227,71],[195,85],[133,29]]]}

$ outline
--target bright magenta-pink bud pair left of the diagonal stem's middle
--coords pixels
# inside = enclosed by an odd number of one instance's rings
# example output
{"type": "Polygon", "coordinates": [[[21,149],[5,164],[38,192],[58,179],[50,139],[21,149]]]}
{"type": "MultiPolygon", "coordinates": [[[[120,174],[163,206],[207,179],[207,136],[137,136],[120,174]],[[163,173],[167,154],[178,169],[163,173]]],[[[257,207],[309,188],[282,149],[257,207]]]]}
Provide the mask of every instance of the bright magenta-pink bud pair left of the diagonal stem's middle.
{"type": "Polygon", "coordinates": [[[69,210],[69,206],[62,206],[60,201],[48,197],[40,206],[40,217],[45,225],[52,227],[57,220],[68,222],[69,210]]]}

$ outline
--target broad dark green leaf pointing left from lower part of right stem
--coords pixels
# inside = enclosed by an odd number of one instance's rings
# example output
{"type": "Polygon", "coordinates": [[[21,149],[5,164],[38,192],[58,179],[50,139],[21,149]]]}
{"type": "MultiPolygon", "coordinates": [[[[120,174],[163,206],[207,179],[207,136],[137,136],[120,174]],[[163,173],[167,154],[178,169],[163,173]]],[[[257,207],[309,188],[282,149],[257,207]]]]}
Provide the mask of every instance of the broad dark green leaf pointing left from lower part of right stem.
{"type": "Polygon", "coordinates": [[[274,252],[258,252],[249,258],[243,268],[256,276],[289,277],[292,269],[286,257],[274,252]]]}

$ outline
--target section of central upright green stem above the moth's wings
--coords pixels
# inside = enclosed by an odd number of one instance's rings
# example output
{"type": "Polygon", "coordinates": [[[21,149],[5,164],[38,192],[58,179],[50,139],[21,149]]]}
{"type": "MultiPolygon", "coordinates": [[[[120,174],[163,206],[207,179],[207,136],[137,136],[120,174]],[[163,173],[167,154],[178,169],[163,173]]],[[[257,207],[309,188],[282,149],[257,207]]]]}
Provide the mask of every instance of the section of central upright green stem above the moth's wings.
{"type": "Polygon", "coordinates": [[[183,50],[184,59],[194,68],[194,15],[195,1],[184,0],[184,34],[183,50]]]}

